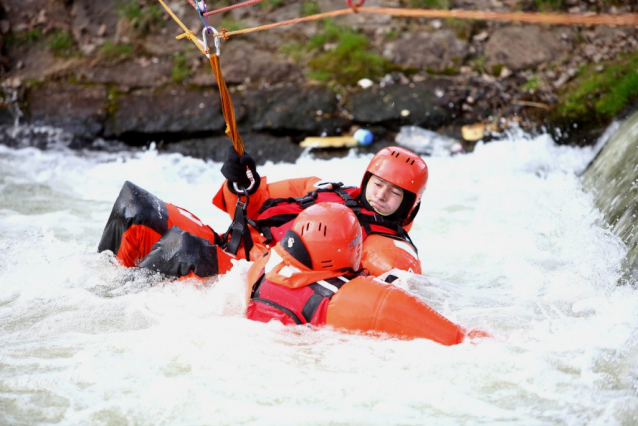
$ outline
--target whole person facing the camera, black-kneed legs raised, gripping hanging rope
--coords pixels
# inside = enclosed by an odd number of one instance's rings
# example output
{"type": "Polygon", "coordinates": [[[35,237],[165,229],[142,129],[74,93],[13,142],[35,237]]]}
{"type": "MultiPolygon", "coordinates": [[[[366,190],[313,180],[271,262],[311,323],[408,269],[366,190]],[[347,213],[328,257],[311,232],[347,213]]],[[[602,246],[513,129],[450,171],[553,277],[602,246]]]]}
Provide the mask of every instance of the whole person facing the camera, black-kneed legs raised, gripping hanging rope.
{"type": "Polygon", "coordinates": [[[425,161],[400,147],[381,149],[361,185],[320,184],[317,177],[268,183],[255,160],[230,147],[222,166],[227,180],[213,204],[233,223],[219,234],[181,207],[126,182],[105,226],[98,251],[111,250],[122,265],[182,277],[223,274],[233,259],[257,260],[276,244],[305,208],[335,202],[350,208],[362,228],[362,265],[374,275],[392,268],[420,274],[408,231],[428,180],[425,161]]]}

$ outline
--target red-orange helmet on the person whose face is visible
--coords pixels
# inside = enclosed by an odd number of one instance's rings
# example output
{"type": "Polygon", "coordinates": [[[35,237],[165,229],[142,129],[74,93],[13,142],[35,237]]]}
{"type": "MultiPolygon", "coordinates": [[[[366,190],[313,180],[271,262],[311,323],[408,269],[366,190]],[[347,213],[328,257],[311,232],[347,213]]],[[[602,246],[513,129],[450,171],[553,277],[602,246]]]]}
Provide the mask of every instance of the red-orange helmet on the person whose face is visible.
{"type": "Polygon", "coordinates": [[[361,191],[364,194],[365,186],[370,175],[376,175],[404,191],[414,195],[411,205],[407,209],[408,222],[411,222],[416,212],[416,207],[421,202],[421,197],[428,183],[428,166],[417,154],[398,146],[389,146],[377,152],[368,164],[366,173],[361,181],[361,191]]]}

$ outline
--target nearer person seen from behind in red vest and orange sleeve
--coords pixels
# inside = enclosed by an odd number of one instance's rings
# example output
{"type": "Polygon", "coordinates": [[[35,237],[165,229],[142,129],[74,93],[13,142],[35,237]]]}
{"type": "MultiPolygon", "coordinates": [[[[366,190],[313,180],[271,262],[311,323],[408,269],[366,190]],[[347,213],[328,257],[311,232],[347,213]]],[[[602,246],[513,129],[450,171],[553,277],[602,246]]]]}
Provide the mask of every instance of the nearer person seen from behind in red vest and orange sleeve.
{"type": "Polygon", "coordinates": [[[246,316],[286,325],[328,325],[401,339],[461,343],[468,332],[420,299],[360,269],[363,237],[354,212],[318,203],[302,211],[247,275],[246,316]]]}

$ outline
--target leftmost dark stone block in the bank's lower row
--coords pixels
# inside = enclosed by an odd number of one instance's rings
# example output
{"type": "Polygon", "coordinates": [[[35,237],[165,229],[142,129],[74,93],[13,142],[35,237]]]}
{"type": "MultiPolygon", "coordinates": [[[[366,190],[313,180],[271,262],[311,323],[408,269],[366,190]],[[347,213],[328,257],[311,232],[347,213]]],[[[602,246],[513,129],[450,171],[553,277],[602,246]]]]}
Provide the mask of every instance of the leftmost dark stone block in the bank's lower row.
{"type": "Polygon", "coordinates": [[[101,134],[106,119],[105,87],[47,84],[34,87],[28,116],[33,124],[59,127],[82,138],[101,134]]]}

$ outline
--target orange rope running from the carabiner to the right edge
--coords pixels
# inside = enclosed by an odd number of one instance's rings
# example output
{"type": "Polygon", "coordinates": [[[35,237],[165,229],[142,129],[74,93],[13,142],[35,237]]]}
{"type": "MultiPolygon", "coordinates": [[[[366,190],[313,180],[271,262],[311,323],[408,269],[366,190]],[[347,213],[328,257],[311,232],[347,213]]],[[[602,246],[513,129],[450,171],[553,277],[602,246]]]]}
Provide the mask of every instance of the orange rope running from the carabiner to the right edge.
{"type": "MultiPolygon", "coordinates": [[[[638,26],[638,14],[627,13],[622,15],[611,14],[581,14],[571,15],[564,13],[528,13],[528,12],[481,12],[474,10],[430,10],[430,9],[396,9],[384,7],[359,7],[353,9],[339,9],[331,12],[319,13],[302,18],[290,19],[288,21],[276,22],[274,24],[262,25],[254,28],[246,28],[237,31],[228,31],[226,36],[246,34],[254,31],[263,31],[271,28],[283,27],[286,25],[299,24],[302,22],[314,21],[317,19],[332,18],[335,16],[349,15],[352,13],[372,13],[377,15],[403,16],[408,18],[457,18],[474,19],[479,21],[510,21],[525,22],[534,24],[554,24],[554,25],[607,25],[607,26],[638,26]]],[[[221,33],[216,33],[215,37],[221,37],[221,33]]]]}

